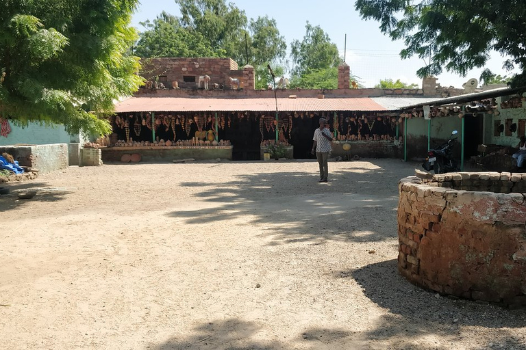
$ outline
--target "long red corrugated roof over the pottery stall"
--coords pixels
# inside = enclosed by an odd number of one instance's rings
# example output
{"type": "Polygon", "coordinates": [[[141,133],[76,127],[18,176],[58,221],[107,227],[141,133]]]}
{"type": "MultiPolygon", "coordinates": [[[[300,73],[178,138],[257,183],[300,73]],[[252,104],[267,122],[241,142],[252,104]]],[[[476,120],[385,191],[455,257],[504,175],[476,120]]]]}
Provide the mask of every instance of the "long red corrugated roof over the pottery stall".
{"type": "MultiPolygon", "coordinates": [[[[278,98],[279,111],[386,111],[368,97],[278,98]]],[[[182,111],[275,111],[274,98],[132,97],[115,105],[117,113],[182,111]]]]}

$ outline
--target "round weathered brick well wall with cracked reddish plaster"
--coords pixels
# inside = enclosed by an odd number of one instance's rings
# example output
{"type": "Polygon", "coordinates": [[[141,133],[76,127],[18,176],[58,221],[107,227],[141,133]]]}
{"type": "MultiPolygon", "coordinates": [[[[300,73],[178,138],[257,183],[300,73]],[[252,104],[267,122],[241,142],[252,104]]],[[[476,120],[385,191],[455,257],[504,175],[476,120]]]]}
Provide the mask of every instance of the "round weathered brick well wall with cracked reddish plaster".
{"type": "Polygon", "coordinates": [[[526,174],[418,176],[399,185],[400,273],[438,293],[526,306],[526,174]]]}

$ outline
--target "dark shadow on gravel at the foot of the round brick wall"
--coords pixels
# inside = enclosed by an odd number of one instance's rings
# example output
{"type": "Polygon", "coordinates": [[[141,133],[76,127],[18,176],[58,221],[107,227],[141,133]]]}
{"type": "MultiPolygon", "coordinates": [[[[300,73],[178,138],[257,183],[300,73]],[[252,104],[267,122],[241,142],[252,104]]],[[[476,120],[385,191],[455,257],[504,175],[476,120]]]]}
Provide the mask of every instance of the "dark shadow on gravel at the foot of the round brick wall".
{"type": "Polygon", "coordinates": [[[366,297],[390,312],[366,338],[388,340],[394,335],[418,338],[435,334],[454,341],[461,338],[464,327],[479,326],[495,339],[480,349],[498,349],[500,345],[500,349],[526,349],[525,340],[507,330],[526,327],[524,310],[450,299],[425,291],[399,275],[397,260],[367,265],[335,277],[353,278],[366,297]]]}

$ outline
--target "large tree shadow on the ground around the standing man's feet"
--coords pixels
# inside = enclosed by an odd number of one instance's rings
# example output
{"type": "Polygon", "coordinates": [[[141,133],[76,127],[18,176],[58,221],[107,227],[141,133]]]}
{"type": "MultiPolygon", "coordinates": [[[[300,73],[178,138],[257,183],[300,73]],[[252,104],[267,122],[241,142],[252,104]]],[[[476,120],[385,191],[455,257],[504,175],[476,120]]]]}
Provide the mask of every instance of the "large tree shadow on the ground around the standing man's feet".
{"type": "Polygon", "coordinates": [[[183,218],[187,224],[243,217],[245,225],[260,226],[266,236],[273,235],[272,245],[320,239],[392,239],[398,183],[401,177],[412,174],[414,167],[405,165],[401,174],[379,165],[364,167],[362,162],[345,165],[330,173],[329,183],[317,182],[314,163],[312,173],[265,172],[241,174],[223,183],[182,183],[182,187],[201,187],[195,196],[211,205],[167,215],[183,218]]]}

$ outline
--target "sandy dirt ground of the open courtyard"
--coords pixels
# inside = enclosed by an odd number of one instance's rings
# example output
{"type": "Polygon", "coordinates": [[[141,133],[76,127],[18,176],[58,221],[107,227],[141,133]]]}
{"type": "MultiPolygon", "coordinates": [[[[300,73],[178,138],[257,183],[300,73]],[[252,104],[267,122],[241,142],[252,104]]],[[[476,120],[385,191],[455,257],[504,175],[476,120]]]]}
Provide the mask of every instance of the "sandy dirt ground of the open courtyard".
{"type": "Polygon", "coordinates": [[[71,167],[0,197],[0,349],[526,349],[526,312],[397,273],[415,164],[71,167]]]}

